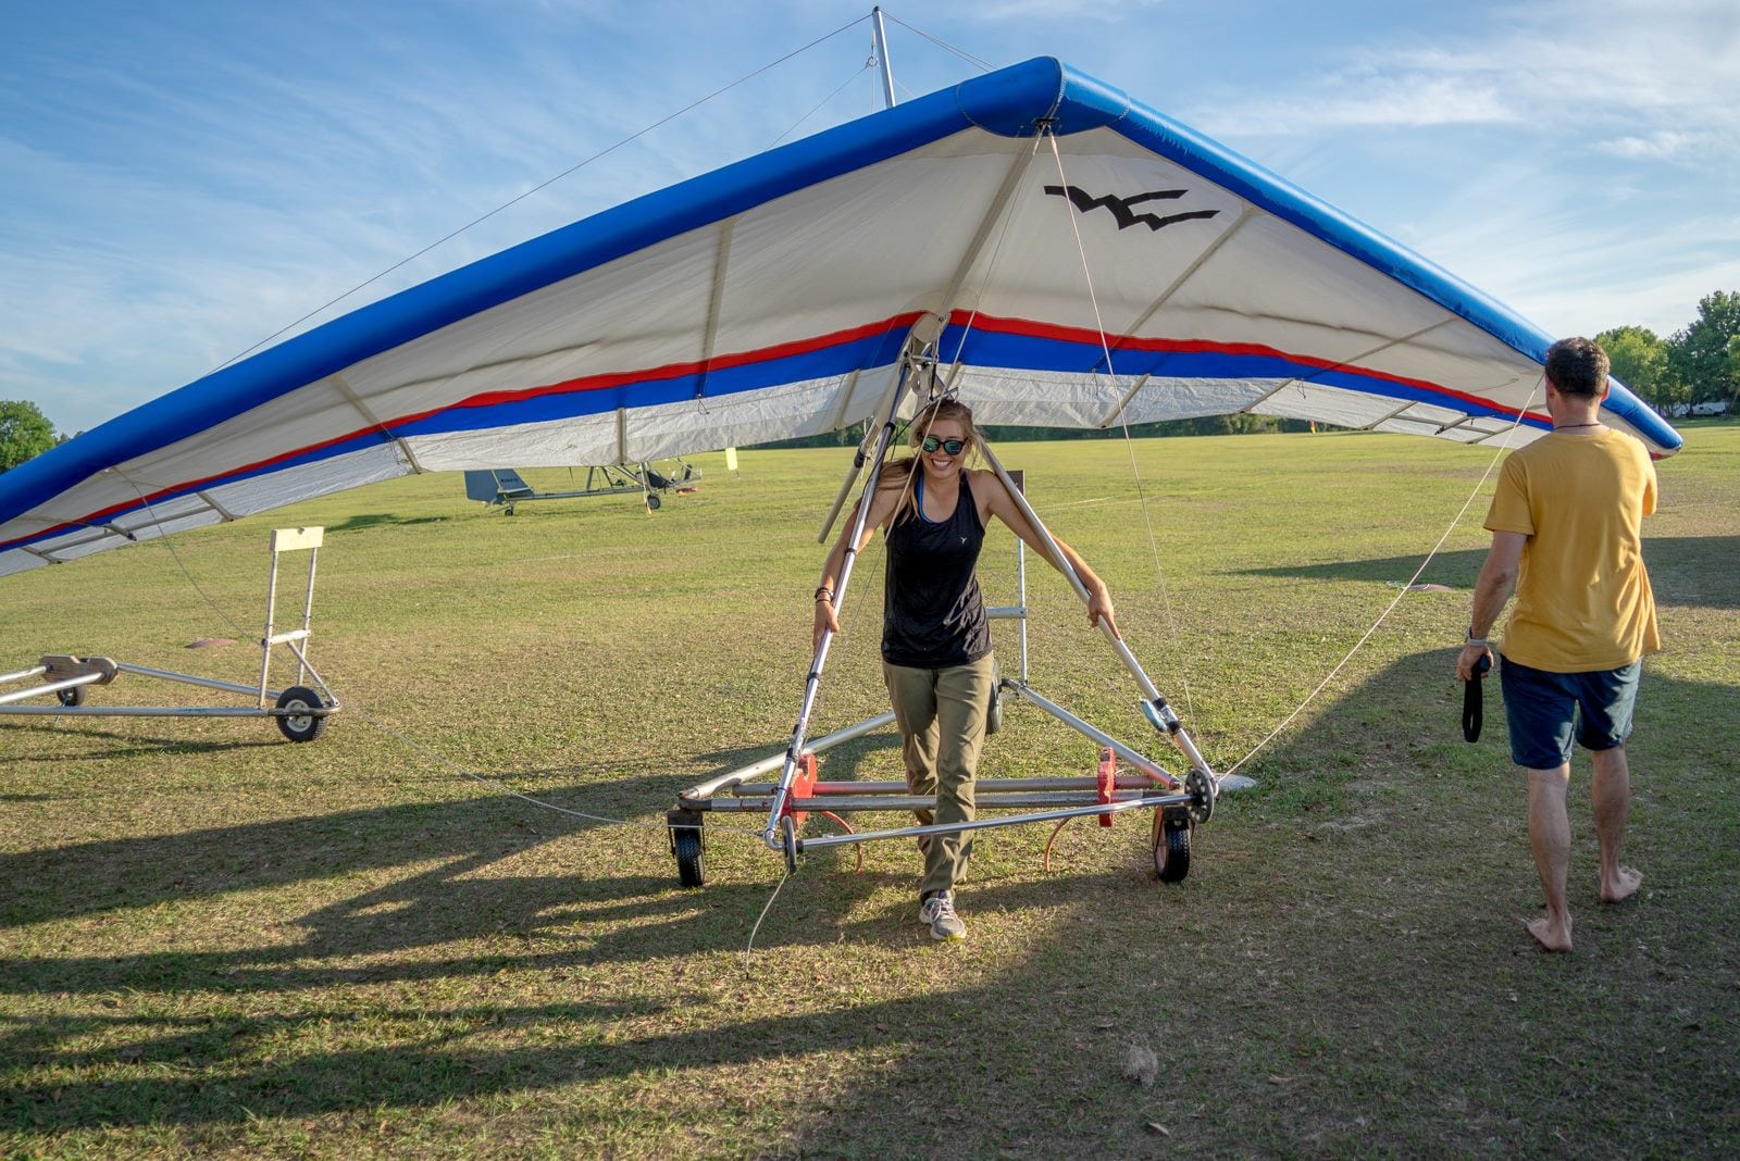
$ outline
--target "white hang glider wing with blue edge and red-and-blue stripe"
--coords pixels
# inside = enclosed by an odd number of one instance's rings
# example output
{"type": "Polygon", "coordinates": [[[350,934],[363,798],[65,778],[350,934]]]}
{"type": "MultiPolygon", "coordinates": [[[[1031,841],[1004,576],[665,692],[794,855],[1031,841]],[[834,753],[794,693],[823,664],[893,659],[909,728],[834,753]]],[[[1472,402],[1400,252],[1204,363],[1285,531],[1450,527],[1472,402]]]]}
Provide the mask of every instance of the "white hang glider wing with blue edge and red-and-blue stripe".
{"type": "MultiPolygon", "coordinates": [[[[635,464],[872,415],[912,334],[981,422],[1255,412],[1517,447],[1550,337],[1034,59],[383,299],[0,476],[0,574],[412,471],[635,464]]],[[[1603,417],[1672,428],[1615,386],[1603,417]]]]}

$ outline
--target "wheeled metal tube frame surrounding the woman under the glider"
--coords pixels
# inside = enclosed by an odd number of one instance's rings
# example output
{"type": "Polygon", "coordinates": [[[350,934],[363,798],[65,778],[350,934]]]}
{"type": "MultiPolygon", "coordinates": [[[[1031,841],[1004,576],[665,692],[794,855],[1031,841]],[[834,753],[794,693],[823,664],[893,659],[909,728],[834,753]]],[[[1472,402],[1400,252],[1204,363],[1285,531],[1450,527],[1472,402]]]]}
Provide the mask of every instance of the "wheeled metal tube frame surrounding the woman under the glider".
{"type": "MultiPolygon", "coordinates": [[[[893,391],[893,400],[887,405],[887,417],[877,435],[872,471],[858,502],[853,532],[846,537],[846,558],[840,567],[840,575],[837,577],[837,601],[844,598],[846,587],[851,582],[853,563],[856,560],[854,546],[863,537],[865,521],[870,513],[870,501],[875,494],[875,481],[882,462],[887,457],[893,433],[898,426],[900,405],[907,398],[907,393],[914,391],[912,384],[919,379],[927,379],[931,374],[931,368],[924,363],[924,356],[929,349],[929,344],[924,344],[917,337],[908,342],[908,351],[901,365],[898,384],[893,391]]],[[[1070,580],[1077,598],[1081,598],[1082,603],[1088,603],[1086,586],[1081,577],[1075,575],[1075,570],[1070,568],[1068,560],[1058,549],[1056,541],[1039,520],[1039,514],[1034,513],[1032,506],[1027,502],[1021,481],[1004,469],[990,448],[981,445],[980,450],[985,454],[992,469],[997,473],[999,480],[1004,481],[1004,487],[1009,488],[1009,494],[1014,497],[1021,513],[1037,532],[1047,549],[1046,554],[1053,560],[1053,563],[1061,563],[1060,572],[1063,572],[1063,575],[1070,580]]],[[[858,459],[861,466],[861,448],[858,452],[858,459]]],[[[835,511],[839,511],[839,506],[835,506],[835,511]]],[[[823,539],[825,535],[826,534],[823,534],[823,539]]],[[[973,822],[905,826],[887,831],[858,833],[842,822],[846,834],[799,838],[797,829],[804,824],[811,812],[823,813],[839,822],[833,812],[936,808],[934,794],[912,794],[905,782],[823,782],[818,779],[818,754],[832,749],[833,746],[887,726],[894,720],[894,714],[889,711],[825,737],[806,740],[809,716],[814,709],[816,692],[821,683],[821,671],[826,664],[828,647],[833,640],[833,631],[825,629],[821,643],[816,647],[809,674],[804,681],[804,702],[799,709],[797,725],[793,726],[786,749],[780,754],[773,754],[729,773],[722,773],[677,794],[677,806],[666,813],[666,826],[670,831],[672,853],[677,859],[679,881],[684,886],[701,886],[705,881],[703,836],[705,815],[710,812],[767,812],[767,826],[762,831],[762,841],[766,841],[773,850],[781,850],[785,853],[786,867],[795,871],[797,857],[806,850],[823,850],[849,843],[858,845],[929,834],[959,834],[966,831],[983,831],[1034,822],[1054,822],[1061,827],[1070,819],[1082,817],[1098,817],[1101,826],[1112,826],[1114,813],[1124,813],[1129,810],[1154,810],[1152,831],[1155,871],[1162,881],[1183,879],[1190,866],[1188,857],[1192,831],[1197,824],[1208,822],[1213,815],[1215,799],[1220,793],[1220,779],[1197,751],[1195,742],[1192,742],[1188,732],[1183,728],[1183,723],[1178,721],[1178,716],[1166,704],[1166,699],[1154,688],[1154,683],[1141,669],[1134,653],[1129,652],[1129,647],[1117,638],[1110,627],[1105,626],[1105,622],[1100,624],[1101,631],[1141,690],[1143,716],[1159,733],[1168,737],[1188,761],[1188,772],[1183,777],[1169,773],[1152,758],[1114,739],[1032,688],[1028,683],[1025,547],[1027,546],[1016,539],[1018,603],[1013,607],[992,607],[985,610],[987,617],[994,620],[1016,620],[1020,626],[1020,676],[999,676],[992,704],[992,723],[988,723],[988,728],[999,728],[1004,700],[1016,699],[1028,702],[1100,746],[1101,763],[1098,775],[980,779],[974,782],[981,810],[1021,810],[1023,813],[974,819],[973,822]],[[1121,773],[1117,766],[1119,761],[1122,761],[1129,772],[1121,773]],[[776,768],[780,770],[778,782],[750,782],[750,779],[771,773],[776,768]]]]}

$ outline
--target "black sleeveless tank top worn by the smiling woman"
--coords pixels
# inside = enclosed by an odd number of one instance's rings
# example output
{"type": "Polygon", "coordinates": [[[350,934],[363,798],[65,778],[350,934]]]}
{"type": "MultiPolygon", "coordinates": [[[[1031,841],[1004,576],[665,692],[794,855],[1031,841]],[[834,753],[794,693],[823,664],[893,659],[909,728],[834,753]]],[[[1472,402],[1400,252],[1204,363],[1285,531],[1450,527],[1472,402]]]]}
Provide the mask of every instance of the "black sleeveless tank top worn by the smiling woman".
{"type": "Polygon", "coordinates": [[[914,471],[917,513],[900,516],[887,534],[882,660],[914,669],[966,666],[990,653],[990,622],[973,572],[985,525],[966,471],[955,511],[941,521],[924,516],[924,469],[914,471]]]}

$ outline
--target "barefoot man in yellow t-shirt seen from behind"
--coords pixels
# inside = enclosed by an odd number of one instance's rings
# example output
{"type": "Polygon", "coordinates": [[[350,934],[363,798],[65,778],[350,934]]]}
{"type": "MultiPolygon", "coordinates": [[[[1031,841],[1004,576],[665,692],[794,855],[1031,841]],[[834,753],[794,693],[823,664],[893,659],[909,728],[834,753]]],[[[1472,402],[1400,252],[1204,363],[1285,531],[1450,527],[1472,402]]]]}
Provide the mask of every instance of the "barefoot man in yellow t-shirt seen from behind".
{"type": "Polygon", "coordinates": [[[1571,951],[1564,899],[1571,824],[1566,787],[1571,737],[1590,751],[1590,796],[1601,846],[1601,900],[1637,892],[1643,874],[1620,866],[1630,812],[1625,739],[1643,655],[1660,648],[1655,596],[1639,523],[1655,511],[1655,468],[1643,443],[1604,428],[1608,356],[1589,339],[1547,349],[1552,433],[1514,452],[1493,494],[1493,547],[1474,586],[1456,676],[1491,659],[1486,633],[1516,587],[1505,626],[1500,687],[1510,758],[1528,773],[1528,836],[1547,912],[1526,923],[1547,951],[1571,951]]]}

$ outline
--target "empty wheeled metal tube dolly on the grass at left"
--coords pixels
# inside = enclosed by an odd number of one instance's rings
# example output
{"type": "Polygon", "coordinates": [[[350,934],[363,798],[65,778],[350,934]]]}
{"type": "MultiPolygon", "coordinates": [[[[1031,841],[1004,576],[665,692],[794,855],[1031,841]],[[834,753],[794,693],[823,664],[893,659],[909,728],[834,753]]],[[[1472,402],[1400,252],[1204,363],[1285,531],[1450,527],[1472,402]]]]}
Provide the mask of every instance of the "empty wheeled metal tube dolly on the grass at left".
{"type": "Polygon", "coordinates": [[[219,681],[200,678],[190,673],[171,673],[148,666],[130,666],[110,657],[75,657],[70,653],[47,653],[30,669],[0,674],[0,687],[31,678],[44,678],[42,683],[0,693],[0,714],[17,716],[68,716],[68,718],[271,718],[278,732],[292,742],[313,742],[325,733],[327,718],[338,713],[338,697],[327,687],[325,678],[308,660],[308,641],[311,638],[315,607],[315,570],[320,558],[320,544],[325,528],[277,528],[271,534],[271,572],[266,586],[266,627],[259,638],[259,685],[240,685],[237,681],[219,681]],[[278,612],[278,556],[284,553],[308,553],[308,577],[303,591],[303,619],[296,629],[275,633],[278,612]],[[296,683],[282,690],[270,687],[271,648],[282,645],[296,659],[296,683]],[[179,681],[209,690],[224,690],[254,699],[254,706],[87,706],[85,695],[92,685],[108,685],[117,676],[130,673],[141,678],[158,678],[179,681]],[[56,706],[23,706],[24,699],[54,695],[56,706]],[[268,704],[271,702],[271,704],[268,704]]]}

